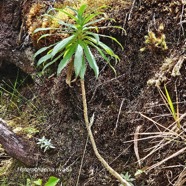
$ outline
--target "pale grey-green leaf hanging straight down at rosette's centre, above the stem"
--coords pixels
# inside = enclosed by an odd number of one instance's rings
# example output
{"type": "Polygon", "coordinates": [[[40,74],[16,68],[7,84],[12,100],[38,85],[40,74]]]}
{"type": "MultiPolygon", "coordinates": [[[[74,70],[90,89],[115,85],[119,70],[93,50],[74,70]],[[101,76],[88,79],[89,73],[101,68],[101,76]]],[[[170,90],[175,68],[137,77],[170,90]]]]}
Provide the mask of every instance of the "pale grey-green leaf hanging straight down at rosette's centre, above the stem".
{"type": "Polygon", "coordinates": [[[79,44],[76,49],[75,57],[74,57],[74,70],[76,77],[79,75],[82,67],[82,61],[83,61],[83,48],[79,44]]]}

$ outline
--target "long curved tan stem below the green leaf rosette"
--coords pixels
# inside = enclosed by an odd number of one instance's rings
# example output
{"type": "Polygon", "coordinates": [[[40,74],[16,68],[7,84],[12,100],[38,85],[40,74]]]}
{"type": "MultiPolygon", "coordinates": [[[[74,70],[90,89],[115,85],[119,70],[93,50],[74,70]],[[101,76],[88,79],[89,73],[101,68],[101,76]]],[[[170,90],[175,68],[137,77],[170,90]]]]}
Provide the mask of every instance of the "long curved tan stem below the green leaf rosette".
{"type": "Polygon", "coordinates": [[[121,175],[119,173],[117,173],[112,167],[110,167],[110,165],[103,159],[103,157],[98,152],[98,149],[97,149],[97,146],[96,146],[96,143],[95,143],[95,140],[94,140],[94,136],[93,136],[92,131],[91,131],[91,125],[90,125],[89,119],[88,119],[85,82],[82,79],[80,80],[80,82],[81,82],[81,91],[82,91],[82,100],[83,100],[84,121],[85,121],[88,136],[90,138],[94,153],[95,153],[96,157],[98,158],[98,160],[103,164],[103,166],[106,168],[107,171],[110,172],[110,174],[112,176],[114,176],[120,183],[124,184],[124,186],[131,186],[125,179],[123,179],[121,177],[121,175]]]}

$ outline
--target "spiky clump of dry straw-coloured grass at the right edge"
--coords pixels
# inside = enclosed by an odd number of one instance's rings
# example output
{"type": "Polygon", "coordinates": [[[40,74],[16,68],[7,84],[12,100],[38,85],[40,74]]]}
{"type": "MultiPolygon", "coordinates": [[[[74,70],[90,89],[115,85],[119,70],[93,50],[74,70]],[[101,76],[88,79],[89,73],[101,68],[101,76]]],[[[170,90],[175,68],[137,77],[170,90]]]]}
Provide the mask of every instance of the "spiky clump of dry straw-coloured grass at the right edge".
{"type": "MultiPolygon", "coordinates": [[[[180,155],[184,155],[186,152],[186,135],[185,135],[185,130],[184,130],[184,121],[186,118],[186,113],[180,113],[178,106],[179,102],[178,99],[176,99],[176,102],[172,102],[172,105],[176,105],[176,117],[175,114],[172,113],[172,110],[170,109],[170,105],[168,101],[166,100],[166,95],[163,93],[162,90],[159,90],[161,97],[164,101],[164,104],[159,105],[161,106],[166,106],[169,113],[160,115],[160,116],[155,116],[155,117],[149,117],[144,113],[139,112],[138,114],[148,121],[148,123],[152,123],[152,126],[155,126],[155,130],[151,132],[152,130],[147,129],[144,132],[140,132],[141,125],[139,125],[136,128],[136,131],[134,133],[134,140],[128,141],[128,142],[133,142],[134,143],[134,152],[137,158],[137,163],[146,174],[148,174],[152,170],[157,170],[161,169],[166,162],[170,160],[175,163],[176,157],[180,155]],[[160,123],[157,121],[157,118],[164,118],[163,121],[170,121],[170,118],[172,117],[173,122],[168,124],[168,123],[160,123]],[[179,124],[179,125],[178,125],[179,124]],[[149,132],[150,131],[150,132],[149,132]],[[147,142],[147,148],[142,149],[140,148],[140,142],[145,141],[147,142]],[[175,147],[175,149],[172,149],[171,151],[168,152],[168,149],[171,147],[175,147]],[[164,155],[161,154],[161,152],[166,151],[167,153],[164,152],[164,155]],[[140,158],[140,154],[145,154],[144,157],[140,158]],[[166,154],[166,155],[165,155],[166,154]],[[158,162],[146,166],[146,162],[149,161],[152,157],[160,157],[158,159],[158,162]],[[174,159],[174,160],[173,160],[174,159]],[[143,166],[142,166],[143,165],[143,166]]],[[[150,129],[152,129],[152,126],[150,129]]],[[[125,142],[125,143],[128,143],[125,142]]],[[[142,155],[141,155],[142,156],[142,155]]],[[[153,163],[153,161],[150,161],[153,163]]],[[[169,164],[168,163],[168,164],[169,164]]],[[[173,167],[174,165],[172,165],[173,167]]],[[[184,165],[183,165],[184,167],[184,165]]],[[[176,183],[174,184],[175,186],[183,186],[184,183],[186,183],[186,170],[184,170],[179,174],[179,176],[175,177],[172,181],[170,182],[175,182],[177,179],[176,183]]]]}

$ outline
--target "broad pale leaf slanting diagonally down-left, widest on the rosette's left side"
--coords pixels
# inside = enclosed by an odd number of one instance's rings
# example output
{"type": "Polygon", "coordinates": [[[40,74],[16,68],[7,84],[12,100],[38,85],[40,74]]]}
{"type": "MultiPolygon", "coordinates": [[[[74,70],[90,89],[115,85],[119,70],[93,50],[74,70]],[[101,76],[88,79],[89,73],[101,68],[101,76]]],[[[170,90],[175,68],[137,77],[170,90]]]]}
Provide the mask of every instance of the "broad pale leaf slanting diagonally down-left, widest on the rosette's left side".
{"type": "Polygon", "coordinates": [[[67,37],[65,39],[63,39],[62,41],[60,41],[54,48],[53,51],[51,53],[52,57],[54,57],[58,52],[62,51],[73,39],[74,39],[74,35],[67,37]]]}

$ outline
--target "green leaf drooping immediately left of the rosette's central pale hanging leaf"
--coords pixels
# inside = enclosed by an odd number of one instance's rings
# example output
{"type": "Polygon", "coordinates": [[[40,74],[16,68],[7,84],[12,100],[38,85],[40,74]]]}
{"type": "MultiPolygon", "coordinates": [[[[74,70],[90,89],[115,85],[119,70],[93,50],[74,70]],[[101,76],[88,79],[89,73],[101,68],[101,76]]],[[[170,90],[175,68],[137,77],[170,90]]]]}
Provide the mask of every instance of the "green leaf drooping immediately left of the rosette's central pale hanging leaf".
{"type": "Polygon", "coordinates": [[[57,74],[59,75],[61,71],[66,67],[70,59],[72,58],[72,55],[74,54],[76,49],[76,45],[73,45],[65,54],[64,58],[60,61],[57,69],[57,74]]]}

